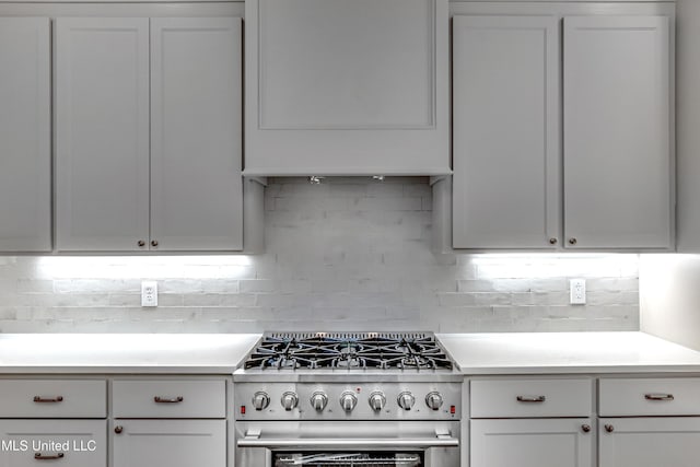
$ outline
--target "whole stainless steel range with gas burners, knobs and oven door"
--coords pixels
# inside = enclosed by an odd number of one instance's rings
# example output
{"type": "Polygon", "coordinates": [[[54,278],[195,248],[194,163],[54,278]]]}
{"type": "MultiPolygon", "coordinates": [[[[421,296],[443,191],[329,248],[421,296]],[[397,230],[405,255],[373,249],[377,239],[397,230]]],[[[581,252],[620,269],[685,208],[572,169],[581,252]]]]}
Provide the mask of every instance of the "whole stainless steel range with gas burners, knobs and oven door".
{"type": "Polygon", "coordinates": [[[236,467],[456,467],[462,381],[430,332],[266,332],[234,373],[236,467]]]}

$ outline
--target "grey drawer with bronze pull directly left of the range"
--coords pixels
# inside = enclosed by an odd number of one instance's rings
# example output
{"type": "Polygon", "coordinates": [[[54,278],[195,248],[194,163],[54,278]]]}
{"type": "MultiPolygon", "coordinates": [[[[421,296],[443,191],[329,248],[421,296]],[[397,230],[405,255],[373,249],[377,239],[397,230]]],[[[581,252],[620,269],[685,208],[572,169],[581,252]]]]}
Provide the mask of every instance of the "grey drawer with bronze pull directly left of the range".
{"type": "Polygon", "coordinates": [[[115,381],[113,410],[116,418],[225,418],[226,382],[115,381]]]}

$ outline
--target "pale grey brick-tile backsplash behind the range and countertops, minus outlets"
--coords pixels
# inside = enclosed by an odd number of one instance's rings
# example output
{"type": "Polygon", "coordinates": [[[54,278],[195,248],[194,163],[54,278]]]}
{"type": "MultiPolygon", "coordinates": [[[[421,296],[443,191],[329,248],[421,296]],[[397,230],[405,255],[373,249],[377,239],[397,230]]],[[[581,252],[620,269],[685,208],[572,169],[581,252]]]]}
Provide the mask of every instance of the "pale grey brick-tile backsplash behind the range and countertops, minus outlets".
{"type": "Polygon", "coordinates": [[[269,182],[262,255],[0,257],[0,331],[639,329],[637,255],[436,256],[425,177],[269,182]]]}

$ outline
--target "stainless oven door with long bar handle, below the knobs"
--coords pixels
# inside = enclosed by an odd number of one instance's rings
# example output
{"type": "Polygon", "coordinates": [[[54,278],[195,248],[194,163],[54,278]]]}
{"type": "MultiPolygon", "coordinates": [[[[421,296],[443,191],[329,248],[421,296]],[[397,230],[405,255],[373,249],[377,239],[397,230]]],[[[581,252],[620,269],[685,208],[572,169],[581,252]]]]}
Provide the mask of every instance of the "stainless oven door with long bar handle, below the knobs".
{"type": "Polygon", "coordinates": [[[236,422],[236,467],[458,467],[459,422],[236,422]]]}

